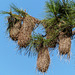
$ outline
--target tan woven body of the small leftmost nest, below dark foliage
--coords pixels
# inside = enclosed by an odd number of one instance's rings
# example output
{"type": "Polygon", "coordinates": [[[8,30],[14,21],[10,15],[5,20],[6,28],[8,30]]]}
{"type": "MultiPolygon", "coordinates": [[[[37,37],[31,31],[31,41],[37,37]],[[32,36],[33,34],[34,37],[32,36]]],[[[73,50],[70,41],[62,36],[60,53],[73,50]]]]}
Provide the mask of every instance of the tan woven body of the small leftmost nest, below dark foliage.
{"type": "Polygon", "coordinates": [[[9,34],[12,40],[18,40],[18,34],[21,28],[21,21],[17,22],[13,27],[10,28],[9,34]]]}

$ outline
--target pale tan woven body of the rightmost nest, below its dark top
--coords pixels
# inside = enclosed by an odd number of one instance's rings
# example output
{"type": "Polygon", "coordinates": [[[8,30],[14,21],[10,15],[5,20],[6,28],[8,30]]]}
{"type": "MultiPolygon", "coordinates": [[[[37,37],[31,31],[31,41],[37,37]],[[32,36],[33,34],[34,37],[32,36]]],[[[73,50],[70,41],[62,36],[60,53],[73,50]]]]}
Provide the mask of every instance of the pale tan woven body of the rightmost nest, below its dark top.
{"type": "Polygon", "coordinates": [[[71,49],[71,37],[64,35],[64,32],[61,32],[59,35],[59,53],[61,55],[66,55],[70,57],[71,49]]]}

